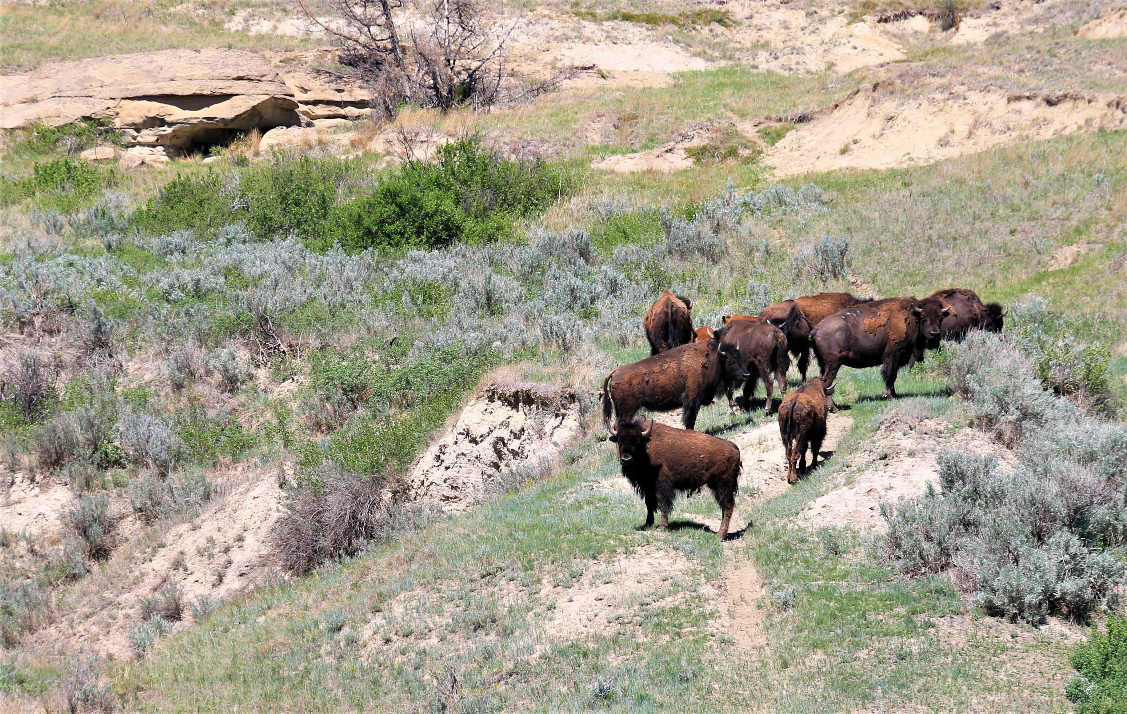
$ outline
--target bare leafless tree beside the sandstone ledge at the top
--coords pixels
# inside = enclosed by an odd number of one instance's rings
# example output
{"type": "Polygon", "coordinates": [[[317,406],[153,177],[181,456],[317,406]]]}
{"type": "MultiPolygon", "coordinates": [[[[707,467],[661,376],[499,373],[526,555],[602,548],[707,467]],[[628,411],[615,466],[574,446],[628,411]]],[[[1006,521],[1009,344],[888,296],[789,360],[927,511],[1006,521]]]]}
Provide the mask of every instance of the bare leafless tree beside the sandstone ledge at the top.
{"type": "Polygon", "coordinates": [[[405,102],[443,111],[488,109],[547,91],[573,74],[559,71],[540,82],[516,78],[505,54],[516,25],[499,27],[477,0],[426,0],[414,6],[411,17],[403,0],[300,2],[310,20],[340,43],[340,62],[356,68],[387,116],[405,102]],[[317,6],[329,15],[318,16],[317,6]]]}

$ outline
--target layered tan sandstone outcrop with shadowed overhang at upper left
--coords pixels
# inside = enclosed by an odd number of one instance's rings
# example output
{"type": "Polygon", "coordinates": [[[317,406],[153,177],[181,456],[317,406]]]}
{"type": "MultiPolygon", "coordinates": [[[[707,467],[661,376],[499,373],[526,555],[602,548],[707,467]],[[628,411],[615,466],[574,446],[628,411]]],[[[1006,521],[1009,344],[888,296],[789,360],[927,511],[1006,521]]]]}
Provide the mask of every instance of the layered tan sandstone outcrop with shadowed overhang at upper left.
{"type": "MultiPolygon", "coordinates": [[[[186,149],[251,128],[356,118],[370,95],[325,71],[279,72],[238,50],[166,50],[46,65],[0,77],[0,128],[108,119],[126,143],[186,149]]],[[[153,154],[156,158],[156,154],[153,154]]]]}

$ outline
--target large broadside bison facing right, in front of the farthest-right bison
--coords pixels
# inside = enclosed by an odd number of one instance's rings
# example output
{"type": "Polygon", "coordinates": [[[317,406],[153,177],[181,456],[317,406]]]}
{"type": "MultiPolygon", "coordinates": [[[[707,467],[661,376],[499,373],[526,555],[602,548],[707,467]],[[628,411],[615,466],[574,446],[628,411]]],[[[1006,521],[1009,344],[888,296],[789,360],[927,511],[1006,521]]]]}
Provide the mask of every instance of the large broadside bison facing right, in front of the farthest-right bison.
{"type": "MultiPolygon", "coordinates": [[[[950,311],[934,297],[889,297],[835,312],[814,329],[814,354],[827,387],[844,367],[880,365],[885,399],[896,396],[896,374],[923,357],[950,311]]],[[[832,409],[836,411],[836,408],[832,409]]]]}

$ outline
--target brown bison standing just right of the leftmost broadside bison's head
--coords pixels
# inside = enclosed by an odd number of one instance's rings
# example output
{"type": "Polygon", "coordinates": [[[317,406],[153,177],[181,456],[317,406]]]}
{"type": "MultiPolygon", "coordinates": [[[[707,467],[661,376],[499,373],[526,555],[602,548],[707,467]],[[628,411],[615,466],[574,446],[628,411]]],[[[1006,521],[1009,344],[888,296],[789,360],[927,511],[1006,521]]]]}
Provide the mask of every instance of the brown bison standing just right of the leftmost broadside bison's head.
{"type": "Polygon", "coordinates": [[[774,400],[774,387],[771,377],[779,382],[779,391],[787,393],[787,369],[790,368],[790,358],[787,356],[787,336],[782,330],[752,320],[729,320],[722,328],[717,330],[716,338],[719,341],[719,352],[722,367],[724,390],[728,395],[728,407],[733,410],[736,402],[731,398],[731,392],[740,384],[744,385],[744,409],[751,411],[752,394],[755,393],[755,383],[763,381],[763,389],[766,392],[765,413],[771,413],[772,401],[774,400]]]}

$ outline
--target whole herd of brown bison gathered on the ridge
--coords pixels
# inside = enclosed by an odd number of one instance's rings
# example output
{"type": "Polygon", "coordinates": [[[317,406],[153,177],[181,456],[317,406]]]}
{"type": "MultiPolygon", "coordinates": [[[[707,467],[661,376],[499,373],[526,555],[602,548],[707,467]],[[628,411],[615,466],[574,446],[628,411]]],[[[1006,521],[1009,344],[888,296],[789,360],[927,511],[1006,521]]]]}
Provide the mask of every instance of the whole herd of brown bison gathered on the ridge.
{"type": "Polygon", "coordinates": [[[950,288],[917,300],[863,300],[849,293],[820,293],[769,305],[758,315],[727,315],[720,329],[693,329],[692,301],[666,289],[642,323],[650,356],[623,365],[603,380],[603,419],[618,446],[622,474],[646,501],[646,526],[660,510],[668,525],[677,491],[708,487],[722,512],[719,536],[728,534],[736,503],[740,458],[731,441],[693,431],[701,407],[718,392],[736,409],[733,392],[744,387],[745,410],[763,382],[771,413],[774,384],[782,394],[779,434],[787,453],[787,481],[817,465],[826,436],[826,414],[836,411],[834,384],[842,367],[880,367],[885,398],[896,396],[900,367],[922,362],[925,349],[961,340],[970,330],[1001,331],[1005,316],[996,303],[974,291],[950,288]],[[822,375],[807,380],[810,350],[822,375]],[[787,393],[791,358],[802,385],[787,393]],[[680,408],[684,429],[638,421],[640,410],[680,408]]]}

